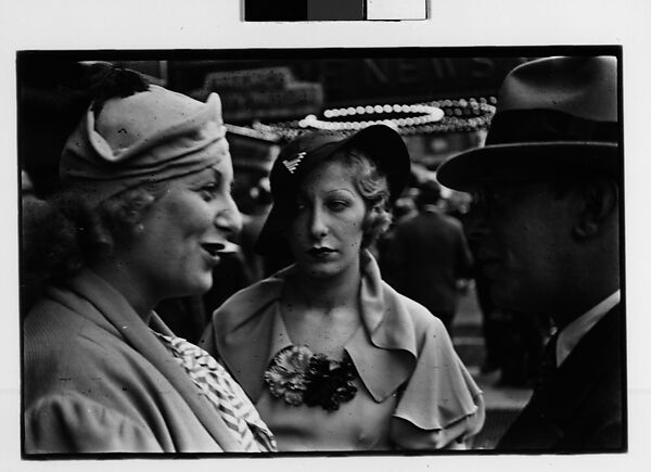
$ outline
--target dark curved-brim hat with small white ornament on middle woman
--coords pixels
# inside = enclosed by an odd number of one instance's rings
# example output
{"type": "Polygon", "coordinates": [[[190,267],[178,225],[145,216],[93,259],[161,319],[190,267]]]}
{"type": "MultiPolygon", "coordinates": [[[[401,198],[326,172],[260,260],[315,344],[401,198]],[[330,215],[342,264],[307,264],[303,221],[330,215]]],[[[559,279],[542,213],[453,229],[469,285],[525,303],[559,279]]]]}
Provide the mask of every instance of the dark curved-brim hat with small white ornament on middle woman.
{"type": "Polygon", "coordinates": [[[255,244],[261,255],[286,251],[284,232],[294,217],[296,192],[305,177],[337,151],[365,152],[386,175],[390,204],[400,196],[410,175],[410,161],[400,135],[386,125],[372,125],[354,135],[311,131],[286,144],[271,167],[269,180],[273,206],[255,244]]]}

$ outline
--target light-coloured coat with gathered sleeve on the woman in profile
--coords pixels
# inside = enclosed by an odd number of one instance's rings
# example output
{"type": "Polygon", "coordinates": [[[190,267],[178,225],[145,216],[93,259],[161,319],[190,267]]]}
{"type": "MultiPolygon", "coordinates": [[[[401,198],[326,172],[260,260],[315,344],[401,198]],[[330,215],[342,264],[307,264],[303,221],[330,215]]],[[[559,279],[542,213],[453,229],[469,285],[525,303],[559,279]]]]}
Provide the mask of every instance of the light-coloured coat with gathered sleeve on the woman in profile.
{"type": "MultiPolygon", "coordinates": [[[[152,314],[152,328],[171,334],[152,314]]],[[[24,323],[26,454],[241,450],[127,301],[84,270],[24,323]]]]}

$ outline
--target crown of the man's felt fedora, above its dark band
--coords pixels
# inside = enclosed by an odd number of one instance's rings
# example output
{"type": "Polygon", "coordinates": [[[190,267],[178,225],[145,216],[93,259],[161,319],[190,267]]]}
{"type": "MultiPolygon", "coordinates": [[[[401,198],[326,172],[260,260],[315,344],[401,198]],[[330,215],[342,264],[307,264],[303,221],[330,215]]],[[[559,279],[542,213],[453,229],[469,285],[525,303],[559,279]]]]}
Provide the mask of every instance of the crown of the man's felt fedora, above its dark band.
{"type": "Polygon", "coordinates": [[[498,95],[498,113],[548,110],[593,122],[617,120],[614,56],[547,58],[514,68],[498,95]]]}

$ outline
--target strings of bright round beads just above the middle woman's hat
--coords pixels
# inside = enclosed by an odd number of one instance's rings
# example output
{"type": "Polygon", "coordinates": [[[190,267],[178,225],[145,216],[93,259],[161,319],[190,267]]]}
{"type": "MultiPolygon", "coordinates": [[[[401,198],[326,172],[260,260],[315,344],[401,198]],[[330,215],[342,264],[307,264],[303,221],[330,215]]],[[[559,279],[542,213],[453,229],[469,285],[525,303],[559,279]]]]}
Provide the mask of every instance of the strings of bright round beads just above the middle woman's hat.
{"type": "Polygon", "coordinates": [[[326,110],[323,118],[308,115],[294,122],[255,123],[253,128],[278,133],[286,140],[294,139],[309,129],[353,132],[378,123],[387,124],[404,136],[472,132],[486,129],[490,125],[496,104],[497,99],[489,97],[437,100],[411,105],[348,106],[326,110]]]}

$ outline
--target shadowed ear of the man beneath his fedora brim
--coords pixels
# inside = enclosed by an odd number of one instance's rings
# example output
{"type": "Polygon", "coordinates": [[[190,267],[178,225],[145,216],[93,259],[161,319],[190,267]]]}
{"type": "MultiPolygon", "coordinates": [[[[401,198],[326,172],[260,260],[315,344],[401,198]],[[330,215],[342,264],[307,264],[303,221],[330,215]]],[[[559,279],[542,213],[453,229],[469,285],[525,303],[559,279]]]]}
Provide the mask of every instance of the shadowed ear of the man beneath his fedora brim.
{"type": "Polygon", "coordinates": [[[579,197],[582,205],[573,234],[582,240],[591,239],[601,233],[610,218],[617,216],[617,184],[605,177],[590,179],[582,183],[579,197]]]}

